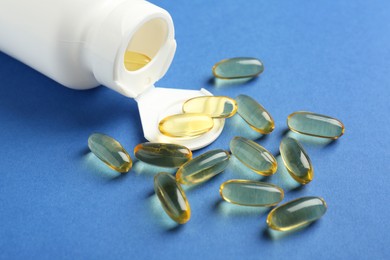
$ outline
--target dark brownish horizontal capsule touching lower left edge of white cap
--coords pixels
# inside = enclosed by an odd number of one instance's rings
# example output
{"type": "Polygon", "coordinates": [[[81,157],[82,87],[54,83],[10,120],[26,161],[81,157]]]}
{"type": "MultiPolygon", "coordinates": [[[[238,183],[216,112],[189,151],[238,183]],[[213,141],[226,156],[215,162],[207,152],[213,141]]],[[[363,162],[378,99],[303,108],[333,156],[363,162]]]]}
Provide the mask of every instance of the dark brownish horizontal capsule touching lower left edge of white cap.
{"type": "Polygon", "coordinates": [[[192,158],[192,152],[178,144],[142,143],[134,148],[138,160],[148,164],[177,168],[192,158]]]}

